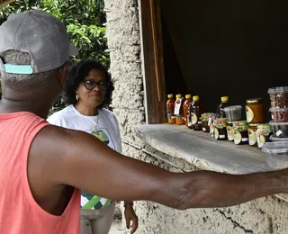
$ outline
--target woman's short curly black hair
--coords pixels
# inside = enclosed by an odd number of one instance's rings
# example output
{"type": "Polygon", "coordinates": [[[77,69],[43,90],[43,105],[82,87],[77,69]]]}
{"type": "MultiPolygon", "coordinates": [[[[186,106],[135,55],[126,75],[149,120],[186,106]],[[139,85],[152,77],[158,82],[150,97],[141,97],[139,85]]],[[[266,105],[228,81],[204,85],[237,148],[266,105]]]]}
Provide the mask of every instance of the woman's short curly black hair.
{"type": "Polygon", "coordinates": [[[102,109],[103,107],[108,108],[109,104],[112,102],[112,91],[114,90],[114,85],[107,68],[94,59],[83,60],[70,67],[63,89],[63,99],[65,103],[76,104],[76,89],[80,83],[85,80],[85,77],[88,75],[91,69],[103,71],[105,73],[106,80],[109,81],[109,88],[106,91],[104,101],[98,106],[98,109],[102,109]]]}

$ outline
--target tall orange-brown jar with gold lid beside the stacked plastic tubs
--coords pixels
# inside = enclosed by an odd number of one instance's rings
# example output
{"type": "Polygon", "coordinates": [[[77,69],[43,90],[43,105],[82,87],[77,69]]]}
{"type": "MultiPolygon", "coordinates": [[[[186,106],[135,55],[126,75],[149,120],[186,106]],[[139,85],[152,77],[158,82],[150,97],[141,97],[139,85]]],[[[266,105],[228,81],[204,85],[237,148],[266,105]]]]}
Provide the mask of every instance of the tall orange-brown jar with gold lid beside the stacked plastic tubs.
{"type": "Polygon", "coordinates": [[[265,110],[262,98],[247,99],[246,116],[248,123],[265,122],[265,110]]]}

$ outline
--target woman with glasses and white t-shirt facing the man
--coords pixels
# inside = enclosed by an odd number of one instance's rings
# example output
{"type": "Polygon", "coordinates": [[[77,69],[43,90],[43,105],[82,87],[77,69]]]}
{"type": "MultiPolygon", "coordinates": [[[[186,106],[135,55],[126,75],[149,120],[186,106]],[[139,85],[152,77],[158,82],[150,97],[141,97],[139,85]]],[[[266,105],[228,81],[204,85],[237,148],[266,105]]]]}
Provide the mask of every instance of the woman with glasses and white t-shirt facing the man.
{"type": "MultiPolygon", "coordinates": [[[[118,121],[106,109],[112,101],[113,89],[111,76],[101,63],[95,60],[77,63],[71,67],[63,90],[64,101],[69,105],[49,116],[49,123],[91,133],[121,153],[118,121]]],[[[109,170],[109,165],[103,170],[109,170]]],[[[131,222],[130,233],[134,233],[138,228],[138,218],[133,202],[124,202],[124,207],[127,228],[130,228],[131,222]]],[[[82,191],[81,208],[82,234],[108,234],[115,210],[114,201],[82,191]]]]}

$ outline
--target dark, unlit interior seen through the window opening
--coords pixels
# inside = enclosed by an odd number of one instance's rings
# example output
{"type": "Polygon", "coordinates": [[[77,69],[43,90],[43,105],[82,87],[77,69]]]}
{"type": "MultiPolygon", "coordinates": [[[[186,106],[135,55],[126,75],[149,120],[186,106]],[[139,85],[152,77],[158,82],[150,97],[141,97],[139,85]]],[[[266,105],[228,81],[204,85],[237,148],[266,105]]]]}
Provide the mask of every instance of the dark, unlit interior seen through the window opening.
{"type": "Polygon", "coordinates": [[[161,12],[166,93],[198,94],[206,112],[221,95],[263,97],[269,121],[267,89],[288,85],[288,3],[165,0],[161,12]]]}

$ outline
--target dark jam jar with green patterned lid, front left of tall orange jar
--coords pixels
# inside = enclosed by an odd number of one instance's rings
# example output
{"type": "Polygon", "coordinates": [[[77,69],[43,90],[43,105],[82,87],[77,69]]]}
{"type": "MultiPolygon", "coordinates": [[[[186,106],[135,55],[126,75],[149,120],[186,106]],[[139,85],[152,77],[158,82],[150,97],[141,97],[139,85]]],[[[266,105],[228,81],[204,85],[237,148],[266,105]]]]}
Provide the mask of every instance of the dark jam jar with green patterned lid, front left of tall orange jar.
{"type": "Polygon", "coordinates": [[[248,124],[247,121],[233,121],[234,144],[248,144],[248,124]]]}

